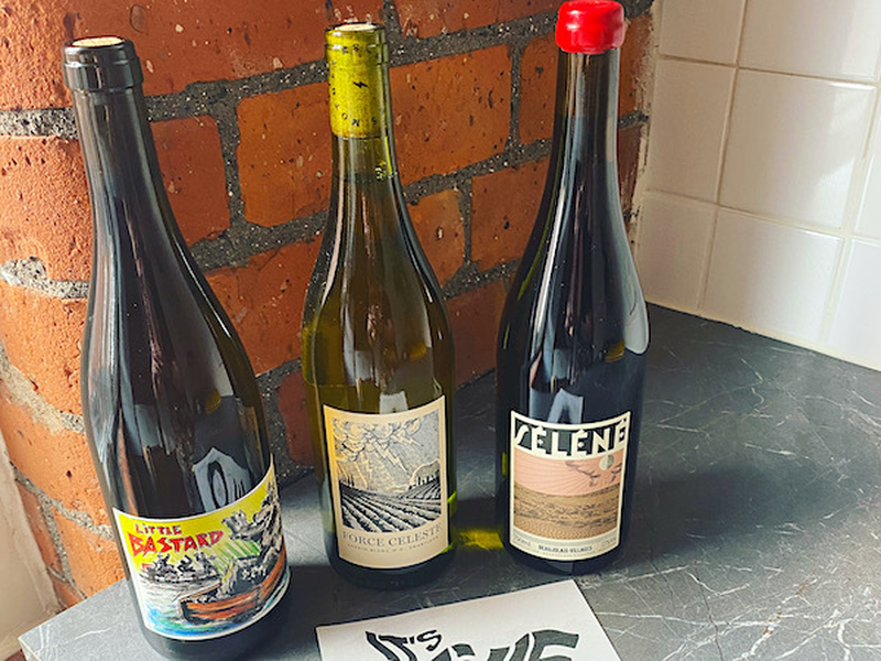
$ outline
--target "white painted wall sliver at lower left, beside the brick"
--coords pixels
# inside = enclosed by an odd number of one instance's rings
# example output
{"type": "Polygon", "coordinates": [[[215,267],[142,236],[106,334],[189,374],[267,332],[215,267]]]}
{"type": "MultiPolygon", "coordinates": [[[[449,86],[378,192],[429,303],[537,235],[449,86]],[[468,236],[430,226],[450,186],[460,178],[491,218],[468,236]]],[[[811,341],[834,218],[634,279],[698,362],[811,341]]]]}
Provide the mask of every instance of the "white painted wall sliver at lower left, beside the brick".
{"type": "Polygon", "coordinates": [[[0,659],[19,650],[18,638],[58,609],[40,550],[28,525],[0,436],[0,659]]]}

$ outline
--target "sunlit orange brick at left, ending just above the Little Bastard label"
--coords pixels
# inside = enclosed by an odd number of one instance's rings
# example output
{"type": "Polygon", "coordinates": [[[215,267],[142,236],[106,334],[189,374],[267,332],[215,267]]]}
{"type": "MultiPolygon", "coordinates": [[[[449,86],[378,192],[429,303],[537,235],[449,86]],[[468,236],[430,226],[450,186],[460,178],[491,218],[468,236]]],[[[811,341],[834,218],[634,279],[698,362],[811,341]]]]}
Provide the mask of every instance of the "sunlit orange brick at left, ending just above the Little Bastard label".
{"type": "Polygon", "coordinates": [[[108,523],[98,476],[86,437],[69,430],[53,432],[35,422],[0,384],[0,432],[9,458],[36,487],[96,523],[108,523]]]}

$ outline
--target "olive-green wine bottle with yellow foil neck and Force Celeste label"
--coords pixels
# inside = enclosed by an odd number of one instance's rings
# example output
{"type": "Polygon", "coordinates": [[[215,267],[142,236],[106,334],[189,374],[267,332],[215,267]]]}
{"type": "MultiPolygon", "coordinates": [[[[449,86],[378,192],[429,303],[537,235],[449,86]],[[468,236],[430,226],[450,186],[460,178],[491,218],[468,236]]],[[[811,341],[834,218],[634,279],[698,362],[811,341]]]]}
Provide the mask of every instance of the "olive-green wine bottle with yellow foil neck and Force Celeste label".
{"type": "Polygon", "coordinates": [[[455,364],[407,215],[381,25],[326,32],[334,178],[303,314],[303,379],[331,565],[372,587],[434,576],[454,549],[455,364]]]}

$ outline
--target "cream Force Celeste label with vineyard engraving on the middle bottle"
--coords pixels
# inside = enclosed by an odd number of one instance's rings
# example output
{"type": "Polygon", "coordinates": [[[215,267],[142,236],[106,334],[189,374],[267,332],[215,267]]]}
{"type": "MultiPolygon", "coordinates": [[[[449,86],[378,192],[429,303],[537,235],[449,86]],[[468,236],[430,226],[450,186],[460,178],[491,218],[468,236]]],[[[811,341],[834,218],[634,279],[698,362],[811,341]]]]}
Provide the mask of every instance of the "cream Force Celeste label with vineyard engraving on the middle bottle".
{"type": "Polygon", "coordinates": [[[398,413],[324,407],[339,556],[370,568],[449,545],[444,398],[398,413]]]}

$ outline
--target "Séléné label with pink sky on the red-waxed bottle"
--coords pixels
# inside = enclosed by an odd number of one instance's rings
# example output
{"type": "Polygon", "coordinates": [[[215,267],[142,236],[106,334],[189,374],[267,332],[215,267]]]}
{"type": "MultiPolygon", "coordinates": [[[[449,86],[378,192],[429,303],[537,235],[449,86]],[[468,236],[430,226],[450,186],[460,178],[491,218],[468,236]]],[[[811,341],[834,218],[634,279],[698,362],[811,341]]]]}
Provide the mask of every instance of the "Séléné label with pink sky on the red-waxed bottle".
{"type": "Polygon", "coordinates": [[[511,545],[562,561],[618,546],[629,438],[630,411],[581,424],[511,411],[511,545]]]}

